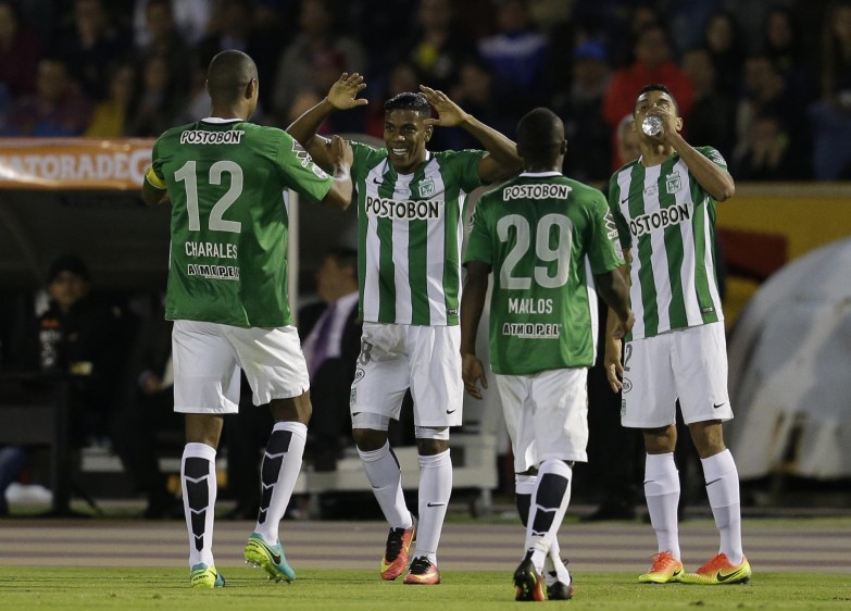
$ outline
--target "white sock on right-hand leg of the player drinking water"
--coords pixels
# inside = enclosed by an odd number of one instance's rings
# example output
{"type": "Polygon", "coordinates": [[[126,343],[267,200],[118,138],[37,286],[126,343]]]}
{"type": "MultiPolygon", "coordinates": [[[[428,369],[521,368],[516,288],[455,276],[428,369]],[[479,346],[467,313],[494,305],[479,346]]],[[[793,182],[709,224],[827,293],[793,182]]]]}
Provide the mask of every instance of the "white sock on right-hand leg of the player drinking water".
{"type": "Polygon", "coordinates": [[[731,564],[741,564],[744,552],[741,546],[741,501],[736,462],[729,450],[700,459],[700,462],[712,515],[715,516],[721,535],[718,553],[726,554],[731,564]]]}

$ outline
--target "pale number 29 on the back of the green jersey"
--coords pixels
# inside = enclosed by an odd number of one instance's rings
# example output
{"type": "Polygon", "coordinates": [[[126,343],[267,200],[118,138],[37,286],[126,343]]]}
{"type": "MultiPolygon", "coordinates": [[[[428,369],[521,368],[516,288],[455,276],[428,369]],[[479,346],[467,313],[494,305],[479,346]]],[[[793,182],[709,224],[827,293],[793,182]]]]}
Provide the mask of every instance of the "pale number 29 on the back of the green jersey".
{"type": "MultiPolygon", "coordinates": [[[[526,255],[531,246],[529,222],[518,214],[509,214],[497,222],[497,235],[500,241],[509,241],[509,229],[514,227],[514,247],[505,257],[505,262],[499,273],[499,282],[502,288],[527,289],[531,286],[531,278],[517,276],[514,269],[526,255]]],[[[535,255],[538,261],[549,263],[555,261],[555,274],[549,274],[549,266],[535,265],[535,282],[545,288],[556,288],[567,282],[571,271],[571,247],[573,246],[573,224],[563,214],[546,214],[538,221],[535,228],[535,255]],[[550,234],[555,228],[555,246],[550,246],[550,234]]]]}

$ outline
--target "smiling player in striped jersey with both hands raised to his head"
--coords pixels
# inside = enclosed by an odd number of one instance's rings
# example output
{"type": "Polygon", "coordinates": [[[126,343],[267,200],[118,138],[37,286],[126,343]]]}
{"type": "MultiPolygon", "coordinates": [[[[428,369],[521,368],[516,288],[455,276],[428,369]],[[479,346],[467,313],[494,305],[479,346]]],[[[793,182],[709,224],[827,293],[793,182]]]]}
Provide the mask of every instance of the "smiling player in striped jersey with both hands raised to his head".
{"type": "MultiPolygon", "coordinates": [[[[341,75],[324,100],[289,126],[323,167],[330,159],[316,130],[333,112],[367,103],[356,97],[364,87],[360,75],[341,75]]],[[[390,524],[381,578],[404,571],[416,533],[404,583],[433,585],[440,583],[437,547],[452,491],[449,427],[461,424],[463,401],[458,300],[464,202],[479,185],[516,172],[521,160],[512,140],[443,92],[421,90],[385,102],[385,148],[352,142],[363,340],[350,406],[358,451],[390,524]],[[435,126],[462,127],[487,151],[433,153],[426,145],[435,126]],[[418,526],[387,441],[409,388],[421,465],[418,526]]]]}

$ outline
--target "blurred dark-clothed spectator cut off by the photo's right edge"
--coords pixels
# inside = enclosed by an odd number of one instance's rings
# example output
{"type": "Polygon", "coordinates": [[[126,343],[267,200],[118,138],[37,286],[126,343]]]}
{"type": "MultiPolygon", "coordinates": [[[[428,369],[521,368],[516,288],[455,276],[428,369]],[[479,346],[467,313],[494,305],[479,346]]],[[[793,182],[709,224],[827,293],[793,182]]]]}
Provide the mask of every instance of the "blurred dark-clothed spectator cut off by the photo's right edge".
{"type": "Polygon", "coordinates": [[[813,124],[813,174],[818,180],[851,178],[851,2],[825,13],[821,99],[809,109],[813,124]]]}

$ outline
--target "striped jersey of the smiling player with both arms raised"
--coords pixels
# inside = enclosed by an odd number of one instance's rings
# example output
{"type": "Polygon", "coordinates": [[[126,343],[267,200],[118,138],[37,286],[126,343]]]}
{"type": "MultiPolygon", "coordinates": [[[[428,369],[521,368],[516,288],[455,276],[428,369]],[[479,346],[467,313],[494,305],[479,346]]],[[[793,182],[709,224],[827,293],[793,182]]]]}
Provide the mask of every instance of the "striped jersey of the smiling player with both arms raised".
{"type": "Polygon", "coordinates": [[[351,145],[361,319],[459,324],[462,212],[481,185],[485,151],[428,152],[413,174],[400,175],[387,149],[351,145]]]}

